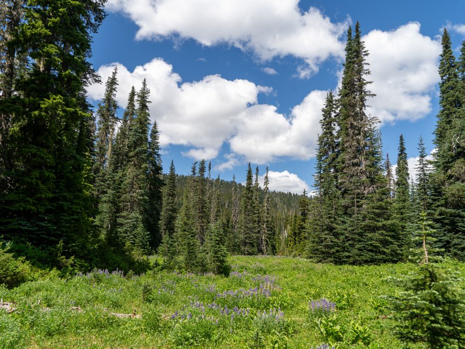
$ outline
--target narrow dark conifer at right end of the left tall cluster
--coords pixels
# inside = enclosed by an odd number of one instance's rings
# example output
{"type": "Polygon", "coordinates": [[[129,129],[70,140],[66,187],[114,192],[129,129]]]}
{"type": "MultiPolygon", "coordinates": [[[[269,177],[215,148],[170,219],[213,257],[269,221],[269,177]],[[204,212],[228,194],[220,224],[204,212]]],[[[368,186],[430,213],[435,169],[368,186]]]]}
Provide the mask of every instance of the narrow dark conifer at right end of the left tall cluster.
{"type": "Polygon", "coordinates": [[[150,235],[150,246],[155,249],[161,242],[160,216],[162,209],[164,185],[161,166],[160,144],[158,141],[158,128],[156,121],[153,122],[150,131],[149,143],[149,174],[148,174],[148,206],[147,206],[147,227],[150,235]]]}

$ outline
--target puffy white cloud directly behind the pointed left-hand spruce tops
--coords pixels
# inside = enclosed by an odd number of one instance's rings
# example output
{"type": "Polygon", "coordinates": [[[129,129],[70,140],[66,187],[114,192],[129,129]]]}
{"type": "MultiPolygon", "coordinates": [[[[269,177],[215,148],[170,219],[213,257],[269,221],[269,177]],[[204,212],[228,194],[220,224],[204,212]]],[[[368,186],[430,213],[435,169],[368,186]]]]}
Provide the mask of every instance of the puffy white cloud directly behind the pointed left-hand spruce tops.
{"type": "MultiPolygon", "coordinates": [[[[103,81],[115,65],[118,66],[119,105],[125,107],[131,86],[137,89],[146,79],[151,91],[151,117],[152,121],[157,120],[161,146],[193,147],[185,155],[195,159],[216,157],[223,142],[235,133],[244,110],[257,103],[261,91],[270,90],[248,80],[230,81],[218,75],[181,84],[180,76],[161,59],[137,66],[133,72],[120,63],[103,65],[98,70],[103,81]]],[[[103,93],[103,84],[88,87],[88,95],[93,100],[100,100],[103,93]]]]}

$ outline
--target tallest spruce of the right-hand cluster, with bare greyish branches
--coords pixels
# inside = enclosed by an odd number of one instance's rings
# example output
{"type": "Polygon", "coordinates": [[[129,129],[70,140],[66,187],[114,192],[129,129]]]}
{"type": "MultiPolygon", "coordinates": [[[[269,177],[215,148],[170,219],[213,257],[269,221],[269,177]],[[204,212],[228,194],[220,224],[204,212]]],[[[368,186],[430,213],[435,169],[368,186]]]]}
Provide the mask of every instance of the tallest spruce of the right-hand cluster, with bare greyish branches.
{"type": "MultiPolygon", "coordinates": [[[[378,235],[380,227],[371,220],[377,216],[368,211],[368,208],[377,211],[371,203],[383,201],[377,191],[384,187],[384,176],[380,136],[376,130],[378,121],[365,112],[367,99],[374,96],[368,90],[371,81],[366,80],[370,74],[367,55],[357,22],[354,36],[351,29],[347,32],[346,60],[339,91],[340,153],[337,169],[344,210],[339,222],[342,239],[340,259],[357,264],[370,259],[367,251],[375,248],[368,248],[367,244],[375,241],[380,244],[383,235],[378,235]],[[373,225],[367,226],[367,223],[373,225]]],[[[378,223],[381,223],[380,219],[378,223]]]]}

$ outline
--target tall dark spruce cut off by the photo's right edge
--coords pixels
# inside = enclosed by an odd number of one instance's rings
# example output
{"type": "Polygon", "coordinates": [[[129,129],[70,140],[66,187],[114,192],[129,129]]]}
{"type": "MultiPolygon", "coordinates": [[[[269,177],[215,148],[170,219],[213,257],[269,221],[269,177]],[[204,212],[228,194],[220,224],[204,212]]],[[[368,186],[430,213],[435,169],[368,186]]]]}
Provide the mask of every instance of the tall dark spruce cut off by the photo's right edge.
{"type": "Polygon", "coordinates": [[[439,112],[434,131],[434,171],[430,176],[433,217],[438,224],[439,244],[454,258],[465,260],[465,101],[463,81],[444,30],[439,61],[439,112]]]}

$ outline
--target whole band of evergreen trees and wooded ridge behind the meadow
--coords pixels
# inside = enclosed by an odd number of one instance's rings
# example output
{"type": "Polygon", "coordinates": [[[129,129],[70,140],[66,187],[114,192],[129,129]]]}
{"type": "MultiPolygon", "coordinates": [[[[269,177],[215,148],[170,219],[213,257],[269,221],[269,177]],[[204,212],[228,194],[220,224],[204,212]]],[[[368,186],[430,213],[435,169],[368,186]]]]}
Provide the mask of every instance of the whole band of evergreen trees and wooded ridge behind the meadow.
{"type": "Polygon", "coordinates": [[[167,268],[224,274],[228,253],[400,262],[424,212],[435,247],[465,260],[465,43],[454,57],[444,30],[436,150],[428,161],[418,140],[412,182],[402,135],[395,171],[382,153],[379,120],[366,113],[369,52],[359,23],[349,27],[341,87],[322,109],[309,197],[270,192],[268,168],[261,188],[251,164],[244,185],[211,178],[205,160],[177,175],[174,162],[161,163],[145,80],[117,114],[117,68],[92,110],[86,87],[99,77],[88,58],[104,4],[0,5],[0,238],[11,251],[77,269],[130,269],[158,253],[167,268]]]}

